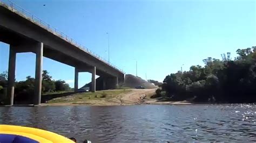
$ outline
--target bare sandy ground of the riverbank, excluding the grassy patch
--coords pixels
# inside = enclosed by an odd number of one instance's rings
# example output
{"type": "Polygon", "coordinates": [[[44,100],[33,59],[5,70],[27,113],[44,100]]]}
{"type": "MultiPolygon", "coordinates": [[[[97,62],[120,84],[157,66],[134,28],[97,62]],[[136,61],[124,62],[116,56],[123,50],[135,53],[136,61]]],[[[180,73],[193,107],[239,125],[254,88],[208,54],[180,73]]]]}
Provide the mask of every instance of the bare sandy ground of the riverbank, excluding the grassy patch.
{"type": "MultiPolygon", "coordinates": [[[[106,90],[105,92],[110,92],[106,90]]],[[[113,91],[113,90],[112,90],[113,91]]],[[[188,102],[159,102],[157,99],[149,98],[154,94],[156,89],[130,89],[111,98],[97,98],[90,100],[81,100],[76,102],[59,102],[59,103],[43,103],[42,106],[69,106],[69,105],[89,105],[89,106],[107,106],[107,105],[138,105],[138,104],[156,104],[156,105],[178,105],[178,104],[191,104],[188,102]]],[[[75,96],[75,95],[74,95],[75,96]]],[[[59,99],[70,99],[69,97],[59,97],[59,99]]]]}

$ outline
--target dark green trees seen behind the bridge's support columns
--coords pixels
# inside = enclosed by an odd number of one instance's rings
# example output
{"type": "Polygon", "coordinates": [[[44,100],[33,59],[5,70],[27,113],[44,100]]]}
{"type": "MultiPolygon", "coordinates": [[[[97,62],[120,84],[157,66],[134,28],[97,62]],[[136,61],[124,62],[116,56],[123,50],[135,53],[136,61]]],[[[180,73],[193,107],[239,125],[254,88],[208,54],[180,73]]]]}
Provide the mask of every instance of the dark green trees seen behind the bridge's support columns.
{"type": "MultiPolygon", "coordinates": [[[[0,74],[0,97],[6,96],[6,88],[8,86],[8,73],[5,71],[0,74]]],[[[15,82],[15,100],[32,99],[35,89],[35,78],[27,76],[25,81],[15,82]]],[[[58,91],[71,91],[68,83],[63,80],[53,80],[47,70],[43,70],[42,74],[42,94],[48,94],[58,91]]],[[[0,98],[0,101],[4,100],[0,98]]],[[[1,104],[1,103],[0,103],[1,104]]]]}

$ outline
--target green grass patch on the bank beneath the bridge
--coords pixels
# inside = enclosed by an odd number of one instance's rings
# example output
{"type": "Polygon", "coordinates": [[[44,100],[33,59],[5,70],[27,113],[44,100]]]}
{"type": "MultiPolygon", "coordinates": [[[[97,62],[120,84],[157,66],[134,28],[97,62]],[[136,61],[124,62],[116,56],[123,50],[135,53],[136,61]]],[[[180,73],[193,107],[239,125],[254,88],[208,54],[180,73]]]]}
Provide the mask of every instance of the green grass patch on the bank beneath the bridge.
{"type": "Polygon", "coordinates": [[[85,102],[88,100],[102,100],[114,98],[117,95],[130,92],[131,90],[103,90],[96,92],[83,92],[78,94],[73,94],[70,96],[54,98],[48,101],[48,103],[77,103],[85,102]]]}

